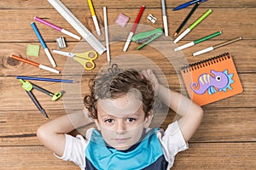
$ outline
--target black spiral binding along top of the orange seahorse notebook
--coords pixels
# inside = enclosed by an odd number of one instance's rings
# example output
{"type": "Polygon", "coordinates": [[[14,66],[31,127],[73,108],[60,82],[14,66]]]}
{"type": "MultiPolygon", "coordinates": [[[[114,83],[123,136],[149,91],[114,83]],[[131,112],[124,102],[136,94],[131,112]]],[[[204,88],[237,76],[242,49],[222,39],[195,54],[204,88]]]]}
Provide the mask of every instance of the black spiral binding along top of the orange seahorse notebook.
{"type": "Polygon", "coordinates": [[[183,73],[186,73],[189,71],[195,71],[195,70],[201,69],[203,67],[206,67],[208,65],[213,65],[215,63],[221,62],[225,59],[230,59],[230,57],[231,57],[230,53],[220,54],[220,55],[214,56],[210,59],[204,59],[204,60],[201,60],[201,61],[193,63],[193,64],[185,65],[185,66],[181,67],[181,71],[183,71],[183,73]]]}

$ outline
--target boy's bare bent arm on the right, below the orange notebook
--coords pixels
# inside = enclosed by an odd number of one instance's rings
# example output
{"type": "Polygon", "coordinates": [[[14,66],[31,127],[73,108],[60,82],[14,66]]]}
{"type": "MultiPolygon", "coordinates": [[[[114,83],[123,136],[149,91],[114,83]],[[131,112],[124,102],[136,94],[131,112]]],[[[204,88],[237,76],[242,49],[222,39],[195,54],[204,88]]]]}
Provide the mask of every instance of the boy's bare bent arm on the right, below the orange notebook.
{"type": "Polygon", "coordinates": [[[160,101],[181,116],[177,122],[184,139],[188,142],[201,123],[203,116],[201,106],[196,105],[182,94],[160,85],[151,70],[143,71],[143,76],[153,83],[155,94],[158,95],[160,101]]]}

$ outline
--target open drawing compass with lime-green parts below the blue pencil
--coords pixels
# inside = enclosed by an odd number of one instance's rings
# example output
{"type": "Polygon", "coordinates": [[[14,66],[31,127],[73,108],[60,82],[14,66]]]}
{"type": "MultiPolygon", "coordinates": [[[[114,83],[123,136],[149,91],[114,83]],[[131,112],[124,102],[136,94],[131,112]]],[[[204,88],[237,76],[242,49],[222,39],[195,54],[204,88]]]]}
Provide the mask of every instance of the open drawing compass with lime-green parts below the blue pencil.
{"type": "Polygon", "coordinates": [[[40,111],[45,117],[49,118],[49,116],[46,114],[42,106],[38,103],[38,100],[35,98],[35,96],[32,94],[32,89],[35,88],[38,91],[47,94],[51,97],[51,100],[55,101],[57,99],[60,99],[64,91],[57,92],[55,94],[50,93],[49,91],[45,90],[44,88],[40,88],[37,85],[33,84],[32,82],[23,81],[22,79],[19,79],[19,81],[22,83],[22,88],[26,90],[26,94],[32,99],[33,103],[37,106],[38,111],[40,111]]]}

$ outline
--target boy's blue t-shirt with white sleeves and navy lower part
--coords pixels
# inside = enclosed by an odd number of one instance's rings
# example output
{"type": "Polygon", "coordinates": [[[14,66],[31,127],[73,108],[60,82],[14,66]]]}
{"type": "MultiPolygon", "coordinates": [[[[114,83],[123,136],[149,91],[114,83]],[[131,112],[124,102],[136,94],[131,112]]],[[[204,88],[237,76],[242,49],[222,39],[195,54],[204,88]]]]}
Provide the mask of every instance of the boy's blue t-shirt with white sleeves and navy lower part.
{"type": "Polygon", "coordinates": [[[144,138],[128,150],[115,150],[102,139],[95,128],[73,137],[66,134],[63,156],[65,161],[73,161],[86,170],[164,170],[170,169],[177,152],[188,149],[188,144],[177,122],[172,122],[166,131],[147,128],[144,138]]]}

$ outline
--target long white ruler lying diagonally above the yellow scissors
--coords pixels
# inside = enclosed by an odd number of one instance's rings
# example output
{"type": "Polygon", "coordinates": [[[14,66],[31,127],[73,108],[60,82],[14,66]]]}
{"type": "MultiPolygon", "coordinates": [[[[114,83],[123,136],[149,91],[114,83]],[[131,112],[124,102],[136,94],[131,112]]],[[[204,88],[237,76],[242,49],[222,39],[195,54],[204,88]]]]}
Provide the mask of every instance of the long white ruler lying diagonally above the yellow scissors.
{"type": "Polygon", "coordinates": [[[92,48],[96,50],[98,54],[103,54],[106,48],[71,12],[66,6],[59,0],[48,0],[48,2],[63,16],[67,22],[73,26],[73,28],[84,37],[84,39],[90,44],[92,48]]]}

